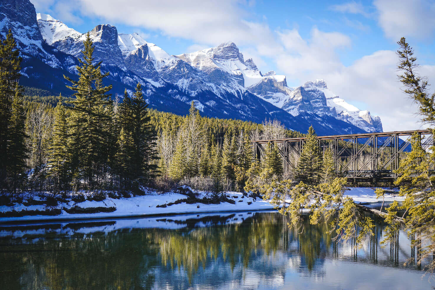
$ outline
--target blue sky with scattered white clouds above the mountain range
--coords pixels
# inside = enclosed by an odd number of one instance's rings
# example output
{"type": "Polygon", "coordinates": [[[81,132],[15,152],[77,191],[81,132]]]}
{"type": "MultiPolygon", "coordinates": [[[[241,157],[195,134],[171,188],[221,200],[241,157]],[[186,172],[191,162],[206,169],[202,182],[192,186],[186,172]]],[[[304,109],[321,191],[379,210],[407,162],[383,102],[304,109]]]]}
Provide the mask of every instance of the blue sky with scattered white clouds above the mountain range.
{"type": "Polygon", "coordinates": [[[80,32],[109,23],[170,54],[233,41],[262,72],[286,75],[289,86],[326,80],[349,103],[378,114],[385,130],[420,126],[397,82],[400,37],[435,82],[435,1],[30,1],[80,32]]]}

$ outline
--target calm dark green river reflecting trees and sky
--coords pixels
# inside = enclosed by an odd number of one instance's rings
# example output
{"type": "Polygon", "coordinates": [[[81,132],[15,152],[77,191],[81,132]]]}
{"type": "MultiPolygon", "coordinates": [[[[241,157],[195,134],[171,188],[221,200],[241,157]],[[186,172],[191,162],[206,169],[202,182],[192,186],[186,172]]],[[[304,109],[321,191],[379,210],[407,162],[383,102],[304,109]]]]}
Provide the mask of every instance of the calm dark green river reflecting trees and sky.
{"type": "MultiPolygon", "coordinates": [[[[405,233],[362,247],[276,212],[0,224],[0,289],[432,289],[405,233]]],[[[432,283],[432,284],[431,284],[432,283]]]]}

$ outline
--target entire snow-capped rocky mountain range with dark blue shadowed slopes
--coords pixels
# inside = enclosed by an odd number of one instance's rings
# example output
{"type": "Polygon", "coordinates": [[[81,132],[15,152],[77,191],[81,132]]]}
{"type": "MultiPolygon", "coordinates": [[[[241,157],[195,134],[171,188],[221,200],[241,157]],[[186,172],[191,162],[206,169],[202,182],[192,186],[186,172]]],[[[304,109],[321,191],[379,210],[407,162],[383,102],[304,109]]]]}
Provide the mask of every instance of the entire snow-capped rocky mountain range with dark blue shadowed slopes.
{"type": "MultiPolygon", "coordinates": [[[[29,0],[0,2],[3,37],[9,29],[23,55],[20,82],[53,94],[70,94],[63,75],[77,78],[75,67],[82,57],[86,33],[50,15],[37,15],[29,0]]],[[[110,24],[97,25],[90,30],[90,37],[95,60],[110,73],[107,84],[113,85],[112,94],[122,94],[124,89],[131,93],[140,82],[150,107],[157,110],[185,114],[193,101],[205,116],[258,123],[277,119],[301,132],[310,125],[319,134],[371,130],[366,124],[371,120],[368,112],[340,105],[338,98],[326,100],[326,86],[289,88],[285,76],[273,71],[262,74],[252,59],[244,60],[232,42],[173,56],[137,33],[118,34],[110,24]],[[366,123],[355,122],[357,118],[366,123]]],[[[376,121],[380,124],[375,119],[372,123],[376,121]]]]}

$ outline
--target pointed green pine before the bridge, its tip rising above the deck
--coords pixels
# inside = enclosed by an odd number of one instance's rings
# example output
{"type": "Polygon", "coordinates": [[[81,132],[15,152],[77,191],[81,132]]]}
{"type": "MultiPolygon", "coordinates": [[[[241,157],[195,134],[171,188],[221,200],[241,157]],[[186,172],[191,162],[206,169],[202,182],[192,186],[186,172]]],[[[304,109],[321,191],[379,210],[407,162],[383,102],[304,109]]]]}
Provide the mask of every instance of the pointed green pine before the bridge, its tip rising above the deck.
{"type": "Polygon", "coordinates": [[[320,181],[322,157],[317,135],[311,126],[299,157],[295,170],[295,178],[309,185],[315,185],[320,181]]]}

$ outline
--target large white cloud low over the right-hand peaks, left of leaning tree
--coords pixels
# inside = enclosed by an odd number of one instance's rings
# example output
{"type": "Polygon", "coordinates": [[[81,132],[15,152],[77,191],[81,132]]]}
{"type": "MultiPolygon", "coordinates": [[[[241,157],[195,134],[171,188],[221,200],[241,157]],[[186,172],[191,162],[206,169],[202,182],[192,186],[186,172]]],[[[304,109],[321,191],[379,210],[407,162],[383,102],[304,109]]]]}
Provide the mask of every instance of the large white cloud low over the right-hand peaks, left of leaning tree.
{"type": "Polygon", "coordinates": [[[394,51],[379,50],[324,78],[328,87],[345,100],[367,104],[361,109],[378,114],[384,131],[417,129],[417,107],[401,90],[397,61],[394,51]]]}

